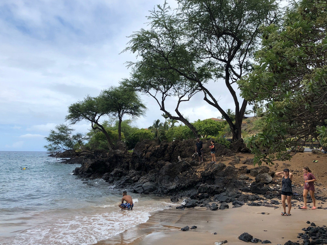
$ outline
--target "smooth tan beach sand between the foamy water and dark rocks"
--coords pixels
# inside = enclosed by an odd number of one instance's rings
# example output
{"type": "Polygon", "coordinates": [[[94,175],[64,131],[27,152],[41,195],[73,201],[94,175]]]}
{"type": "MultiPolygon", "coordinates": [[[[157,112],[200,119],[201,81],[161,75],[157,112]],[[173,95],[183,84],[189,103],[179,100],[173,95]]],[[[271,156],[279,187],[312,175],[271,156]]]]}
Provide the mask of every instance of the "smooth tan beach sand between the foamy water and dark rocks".
{"type": "MultiPolygon", "coordinates": [[[[298,233],[303,232],[314,222],[317,226],[327,225],[325,209],[301,210],[297,205],[291,210],[291,216],[282,216],[279,208],[253,207],[244,205],[240,208],[226,210],[206,210],[193,208],[180,210],[172,207],[153,214],[149,220],[108,240],[99,241],[97,245],[199,245],[215,244],[227,240],[228,244],[245,244],[238,239],[247,232],[254,238],[270,240],[272,244],[284,244],[286,241],[299,241],[298,233]],[[262,214],[265,213],[265,214],[262,214]],[[181,231],[181,227],[195,225],[198,228],[181,231]],[[213,233],[217,233],[214,235],[213,233]]],[[[232,207],[232,204],[229,204],[232,207]]],[[[302,206],[302,205],[301,205],[302,206]]],[[[317,207],[327,207],[317,201],[317,207]]],[[[287,208],[286,208],[287,209],[287,208]]],[[[128,222],[128,220],[126,221],[128,222]]]]}

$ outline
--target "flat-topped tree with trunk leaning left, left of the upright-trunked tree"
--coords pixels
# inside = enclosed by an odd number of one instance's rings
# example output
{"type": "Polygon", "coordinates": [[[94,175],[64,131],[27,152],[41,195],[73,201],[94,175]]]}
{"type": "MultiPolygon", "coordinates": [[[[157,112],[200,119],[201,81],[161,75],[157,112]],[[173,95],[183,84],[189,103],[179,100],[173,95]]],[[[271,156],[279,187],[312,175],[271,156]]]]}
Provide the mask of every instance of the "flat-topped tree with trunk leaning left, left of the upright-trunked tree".
{"type": "Polygon", "coordinates": [[[99,130],[104,133],[107,141],[108,148],[113,148],[114,144],[110,135],[108,134],[105,127],[99,121],[103,116],[111,113],[111,108],[105,107],[105,103],[102,97],[91,97],[87,96],[82,101],[71,104],[68,107],[68,115],[66,120],[71,121],[72,124],[78,123],[82,120],[91,122],[92,129],[99,130]]]}

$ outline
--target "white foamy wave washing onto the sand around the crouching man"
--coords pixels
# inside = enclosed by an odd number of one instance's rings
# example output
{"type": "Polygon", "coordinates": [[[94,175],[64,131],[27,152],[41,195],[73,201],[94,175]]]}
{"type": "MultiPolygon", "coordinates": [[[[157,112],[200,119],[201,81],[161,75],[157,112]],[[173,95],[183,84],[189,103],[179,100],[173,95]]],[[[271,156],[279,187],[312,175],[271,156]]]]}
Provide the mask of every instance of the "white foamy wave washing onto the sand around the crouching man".
{"type": "MultiPolygon", "coordinates": [[[[171,203],[166,201],[148,199],[142,200],[141,203],[140,205],[137,200],[132,211],[118,210],[118,203],[105,204],[101,208],[107,209],[108,212],[51,220],[48,224],[35,226],[22,231],[15,237],[5,239],[1,244],[94,244],[145,223],[152,213],[171,207],[171,203]]],[[[67,212],[70,211],[67,210],[67,212]]]]}

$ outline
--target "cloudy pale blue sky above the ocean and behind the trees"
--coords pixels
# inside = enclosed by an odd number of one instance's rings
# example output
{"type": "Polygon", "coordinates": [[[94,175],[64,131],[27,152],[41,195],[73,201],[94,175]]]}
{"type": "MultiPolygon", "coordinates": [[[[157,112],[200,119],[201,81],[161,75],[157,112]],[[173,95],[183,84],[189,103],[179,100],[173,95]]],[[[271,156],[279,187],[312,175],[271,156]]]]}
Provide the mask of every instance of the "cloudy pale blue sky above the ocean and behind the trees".
{"type": "MultiPolygon", "coordinates": [[[[167,1],[177,7],[174,0],[167,1]]],[[[129,77],[124,52],[128,36],[146,28],[149,10],[164,0],[1,0],[0,151],[45,151],[44,137],[65,122],[70,104],[98,96],[129,77]]],[[[235,108],[224,85],[211,92],[224,110],[235,108]]],[[[133,122],[147,128],[164,122],[154,99],[142,95],[148,110],[133,122]]],[[[168,108],[174,110],[174,99],[168,108]]],[[[191,122],[220,117],[198,93],[180,106],[191,122]]],[[[124,119],[129,119],[128,117],[124,119]]],[[[85,133],[86,121],[73,126],[85,133]]]]}

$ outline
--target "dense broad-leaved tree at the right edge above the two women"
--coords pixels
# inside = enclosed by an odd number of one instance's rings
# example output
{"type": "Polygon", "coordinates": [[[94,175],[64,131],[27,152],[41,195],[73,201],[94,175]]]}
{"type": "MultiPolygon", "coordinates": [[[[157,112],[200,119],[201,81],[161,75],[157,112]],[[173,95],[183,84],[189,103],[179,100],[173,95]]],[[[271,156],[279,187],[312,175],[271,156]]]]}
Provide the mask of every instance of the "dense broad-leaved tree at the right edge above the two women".
{"type": "Polygon", "coordinates": [[[305,143],[326,138],[326,31],[326,3],[312,0],[289,11],[282,27],[263,29],[257,65],[239,83],[246,100],[266,102],[262,133],[249,140],[254,163],[288,160],[305,143]]]}

